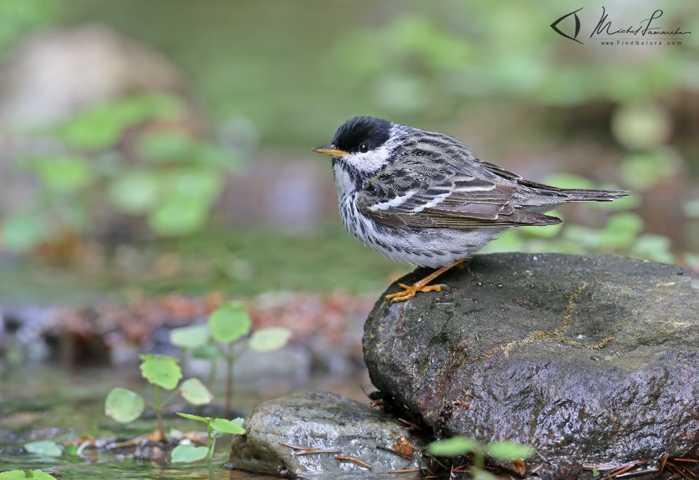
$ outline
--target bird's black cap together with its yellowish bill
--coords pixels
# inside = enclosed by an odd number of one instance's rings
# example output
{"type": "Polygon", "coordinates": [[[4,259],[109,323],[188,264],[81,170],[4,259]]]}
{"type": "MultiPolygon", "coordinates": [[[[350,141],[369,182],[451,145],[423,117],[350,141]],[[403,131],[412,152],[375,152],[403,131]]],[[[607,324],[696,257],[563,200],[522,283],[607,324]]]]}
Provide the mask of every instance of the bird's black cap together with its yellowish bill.
{"type": "Polygon", "coordinates": [[[312,150],[333,157],[353,153],[367,153],[386,143],[390,137],[391,122],[382,118],[355,117],[340,125],[332,139],[332,145],[312,150]]]}

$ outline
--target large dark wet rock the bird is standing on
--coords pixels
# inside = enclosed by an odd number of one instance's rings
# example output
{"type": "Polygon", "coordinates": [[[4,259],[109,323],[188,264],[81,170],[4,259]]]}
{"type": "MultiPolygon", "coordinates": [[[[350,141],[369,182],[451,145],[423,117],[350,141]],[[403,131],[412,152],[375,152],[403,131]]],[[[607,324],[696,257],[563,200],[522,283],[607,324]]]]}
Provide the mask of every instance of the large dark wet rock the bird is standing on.
{"type": "MultiPolygon", "coordinates": [[[[578,477],[585,463],[699,457],[691,272],[521,253],[477,256],[470,269],[439,278],[451,292],[376,303],[364,351],[384,398],[438,437],[532,444],[557,478],[578,477]]],[[[542,462],[527,460],[528,472],[542,462]]]]}

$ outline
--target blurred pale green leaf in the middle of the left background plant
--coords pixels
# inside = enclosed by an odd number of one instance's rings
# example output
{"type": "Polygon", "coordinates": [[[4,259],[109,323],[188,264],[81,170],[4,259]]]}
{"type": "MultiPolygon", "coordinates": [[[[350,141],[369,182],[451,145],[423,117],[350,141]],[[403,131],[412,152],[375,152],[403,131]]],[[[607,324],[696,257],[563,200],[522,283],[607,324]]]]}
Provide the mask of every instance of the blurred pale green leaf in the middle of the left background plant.
{"type": "Polygon", "coordinates": [[[109,199],[123,213],[138,215],[150,211],[157,201],[160,181],[152,171],[132,170],[109,185],[109,199]]]}

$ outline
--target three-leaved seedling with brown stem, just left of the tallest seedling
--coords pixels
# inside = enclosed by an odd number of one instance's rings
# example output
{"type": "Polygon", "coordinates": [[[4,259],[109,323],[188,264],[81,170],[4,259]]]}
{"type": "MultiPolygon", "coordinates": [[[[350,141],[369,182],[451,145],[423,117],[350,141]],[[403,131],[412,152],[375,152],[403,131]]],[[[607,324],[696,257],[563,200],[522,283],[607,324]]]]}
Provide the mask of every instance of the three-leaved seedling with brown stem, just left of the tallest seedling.
{"type": "MultiPolygon", "coordinates": [[[[178,360],[167,355],[141,355],[141,375],[153,383],[155,395],[153,402],[148,402],[155,410],[159,437],[165,439],[162,424],[162,408],[169,402],[171,393],[161,399],[161,389],[174,390],[182,378],[182,371],[177,365],[178,360]]],[[[213,400],[213,395],[198,379],[187,379],[178,388],[182,397],[192,405],[204,405],[213,400]]],[[[146,401],[138,393],[127,388],[116,387],[109,392],[104,402],[104,413],[120,423],[129,423],[139,418],[146,406],[146,401]]]]}

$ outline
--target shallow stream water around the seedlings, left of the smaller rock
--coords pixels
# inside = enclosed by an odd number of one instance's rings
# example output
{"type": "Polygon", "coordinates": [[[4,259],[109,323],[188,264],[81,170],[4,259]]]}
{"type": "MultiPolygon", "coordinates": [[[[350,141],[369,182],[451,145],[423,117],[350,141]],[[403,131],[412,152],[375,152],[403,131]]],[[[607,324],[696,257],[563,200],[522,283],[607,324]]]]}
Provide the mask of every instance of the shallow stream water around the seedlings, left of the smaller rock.
{"type": "MultiPolygon", "coordinates": [[[[155,417],[148,408],[138,420],[122,425],[104,415],[104,397],[114,386],[139,391],[144,397],[150,388],[139,379],[138,369],[99,368],[68,370],[64,367],[36,367],[6,372],[0,381],[0,471],[43,470],[57,479],[208,479],[206,463],[173,464],[166,458],[134,459],[122,453],[85,449],[81,456],[50,458],[26,453],[25,442],[52,439],[61,443],[77,435],[96,439],[130,439],[151,432],[155,417]]],[[[362,386],[371,388],[366,376],[340,378],[314,377],[299,385],[298,381],[271,381],[240,384],[234,394],[234,415],[244,416],[264,400],[293,390],[332,390],[356,400],[367,401],[362,386]]],[[[213,389],[216,398],[223,395],[213,389]]],[[[174,415],[174,411],[197,413],[194,407],[176,398],[166,408],[165,430],[202,430],[197,423],[174,415]]],[[[205,407],[204,415],[220,415],[220,406],[205,407]],[[218,411],[217,411],[218,410],[218,411]]],[[[262,474],[230,470],[226,465],[230,437],[218,439],[213,461],[216,479],[276,479],[262,474]]],[[[393,476],[395,477],[395,476],[393,476]]],[[[392,478],[393,478],[392,477],[392,478]]],[[[309,478],[320,478],[311,476],[309,478]]],[[[335,477],[337,478],[337,477],[335,477]]],[[[348,479],[377,478],[358,472],[348,479]]]]}

